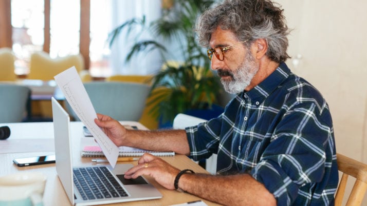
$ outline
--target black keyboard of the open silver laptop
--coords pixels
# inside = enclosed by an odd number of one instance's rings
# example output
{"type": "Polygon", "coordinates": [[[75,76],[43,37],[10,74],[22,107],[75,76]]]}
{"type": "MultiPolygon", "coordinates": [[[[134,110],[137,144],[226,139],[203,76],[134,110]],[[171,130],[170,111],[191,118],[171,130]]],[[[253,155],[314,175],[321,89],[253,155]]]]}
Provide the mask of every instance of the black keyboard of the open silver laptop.
{"type": "Polygon", "coordinates": [[[128,196],[106,167],[74,168],[74,184],[84,200],[128,196]]]}

